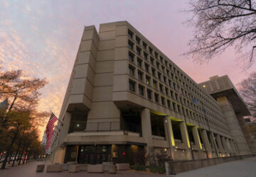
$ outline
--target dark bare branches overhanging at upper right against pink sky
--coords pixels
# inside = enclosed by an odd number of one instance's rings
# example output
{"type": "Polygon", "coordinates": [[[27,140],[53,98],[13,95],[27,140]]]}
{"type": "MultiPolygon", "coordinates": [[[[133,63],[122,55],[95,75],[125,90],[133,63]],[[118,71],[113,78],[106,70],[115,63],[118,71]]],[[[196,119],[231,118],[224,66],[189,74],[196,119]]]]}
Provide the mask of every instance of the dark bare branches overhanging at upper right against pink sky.
{"type": "Polygon", "coordinates": [[[186,53],[198,62],[220,55],[230,46],[250,67],[256,57],[256,2],[253,0],[191,0],[196,30],[186,53]]]}

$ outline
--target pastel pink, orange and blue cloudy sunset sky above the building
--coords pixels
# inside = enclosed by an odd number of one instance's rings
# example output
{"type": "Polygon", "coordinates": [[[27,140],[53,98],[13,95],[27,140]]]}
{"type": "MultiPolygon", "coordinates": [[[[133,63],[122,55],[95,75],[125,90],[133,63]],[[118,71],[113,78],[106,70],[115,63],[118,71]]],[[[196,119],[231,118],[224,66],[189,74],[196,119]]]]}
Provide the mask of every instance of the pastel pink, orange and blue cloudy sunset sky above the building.
{"type": "Polygon", "coordinates": [[[128,21],[197,83],[228,74],[236,85],[256,70],[256,64],[243,69],[232,48],[205,64],[182,55],[193,38],[188,9],[188,0],[1,0],[0,61],[28,77],[46,77],[38,108],[57,116],[86,25],[98,30],[100,23],[128,21]]]}

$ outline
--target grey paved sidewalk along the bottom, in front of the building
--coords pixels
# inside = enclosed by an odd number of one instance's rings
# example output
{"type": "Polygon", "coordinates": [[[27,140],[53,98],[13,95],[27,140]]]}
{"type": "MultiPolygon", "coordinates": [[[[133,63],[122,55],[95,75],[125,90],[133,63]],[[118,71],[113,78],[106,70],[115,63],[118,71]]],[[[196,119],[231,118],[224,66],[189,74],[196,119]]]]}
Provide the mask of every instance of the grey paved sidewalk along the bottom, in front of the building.
{"type": "MultiPolygon", "coordinates": [[[[36,173],[37,164],[45,164],[43,161],[34,161],[28,164],[8,167],[6,170],[0,170],[0,176],[2,177],[71,177],[71,176],[87,176],[87,177],[117,177],[117,176],[161,176],[166,175],[151,174],[146,172],[137,171],[118,171],[117,174],[109,173],[87,173],[80,171],[79,173],[68,173],[63,171],[61,173],[46,173],[46,169],[43,173],[36,173]]],[[[46,163],[47,164],[47,163],[46,163]]],[[[240,161],[230,161],[225,164],[218,164],[216,166],[208,166],[202,169],[196,169],[193,171],[186,171],[178,173],[176,177],[255,177],[256,176],[256,157],[250,159],[243,159],[240,161]]]]}

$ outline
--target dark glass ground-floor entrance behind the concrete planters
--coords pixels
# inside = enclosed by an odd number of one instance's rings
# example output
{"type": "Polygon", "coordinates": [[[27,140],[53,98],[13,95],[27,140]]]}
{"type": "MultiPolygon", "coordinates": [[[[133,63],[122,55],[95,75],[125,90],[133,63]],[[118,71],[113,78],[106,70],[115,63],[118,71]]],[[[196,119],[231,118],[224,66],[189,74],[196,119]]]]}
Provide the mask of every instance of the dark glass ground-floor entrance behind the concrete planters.
{"type": "Polygon", "coordinates": [[[111,161],[111,145],[84,145],[79,147],[78,164],[102,164],[111,161]]]}

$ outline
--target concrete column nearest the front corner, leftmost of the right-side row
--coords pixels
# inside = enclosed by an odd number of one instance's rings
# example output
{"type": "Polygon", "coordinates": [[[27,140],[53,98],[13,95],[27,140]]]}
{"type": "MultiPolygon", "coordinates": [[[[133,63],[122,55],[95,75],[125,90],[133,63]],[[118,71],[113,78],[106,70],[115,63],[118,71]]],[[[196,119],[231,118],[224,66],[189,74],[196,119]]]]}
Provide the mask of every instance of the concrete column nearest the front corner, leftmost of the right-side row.
{"type": "Polygon", "coordinates": [[[149,154],[149,164],[155,164],[149,108],[142,110],[142,137],[146,142],[146,153],[149,154]]]}

